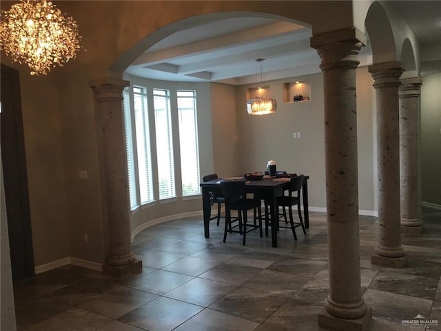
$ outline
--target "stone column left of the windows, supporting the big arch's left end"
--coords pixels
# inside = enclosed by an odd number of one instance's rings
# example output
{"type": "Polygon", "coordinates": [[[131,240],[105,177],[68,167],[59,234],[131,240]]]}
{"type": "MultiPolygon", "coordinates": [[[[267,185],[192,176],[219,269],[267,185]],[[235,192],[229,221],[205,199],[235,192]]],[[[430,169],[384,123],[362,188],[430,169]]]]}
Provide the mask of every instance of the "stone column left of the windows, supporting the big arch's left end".
{"type": "Polygon", "coordinates": [[[123,89],[128,81],[115,78],[90,82],[94,91],[97,143],[105,186],[110,254],[104,272],[124,274],[141,268],[130,246],[130,202],[127,190],[123,89]]]}

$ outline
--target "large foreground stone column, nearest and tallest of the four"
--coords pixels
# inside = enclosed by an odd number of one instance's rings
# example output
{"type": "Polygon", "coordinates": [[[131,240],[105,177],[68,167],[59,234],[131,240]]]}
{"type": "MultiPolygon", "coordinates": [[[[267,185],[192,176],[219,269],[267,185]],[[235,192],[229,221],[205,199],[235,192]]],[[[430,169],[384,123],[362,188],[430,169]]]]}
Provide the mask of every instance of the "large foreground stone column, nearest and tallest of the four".
{"type": "Polygon", "coordinates": [[[356,68],[365,35],[356,29],[314,35],[325,94],[329,296],[318,325],[365,330],[371,319],[360,291],[356,68]]]}

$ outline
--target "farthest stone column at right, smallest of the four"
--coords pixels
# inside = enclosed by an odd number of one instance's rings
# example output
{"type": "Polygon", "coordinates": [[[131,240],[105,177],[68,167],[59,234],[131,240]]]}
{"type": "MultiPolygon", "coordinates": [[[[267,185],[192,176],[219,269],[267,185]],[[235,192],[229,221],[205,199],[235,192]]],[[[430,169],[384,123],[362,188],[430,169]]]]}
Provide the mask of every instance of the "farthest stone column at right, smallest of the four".
{"type": "Polygon", "coordinates": [[[420,192],[420,86],[419,78],[401,79],[400,187],[401,232],[422,232],[420,192]]]}

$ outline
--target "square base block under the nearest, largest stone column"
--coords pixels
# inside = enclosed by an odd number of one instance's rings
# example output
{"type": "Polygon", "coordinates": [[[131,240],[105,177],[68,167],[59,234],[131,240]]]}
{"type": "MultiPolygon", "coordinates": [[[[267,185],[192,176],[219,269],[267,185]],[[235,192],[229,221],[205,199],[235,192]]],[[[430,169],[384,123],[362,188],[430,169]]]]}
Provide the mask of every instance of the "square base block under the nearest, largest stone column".
{"type": "Polygon", "coordinates": [[[320,328],[331,329],[331,330],[341,330],[341,331],[364,331],[372,318],[372,309],[367,308],[365,316],[359,319],[341,319],[340,317],[335,317],[329,314],[323,308],[318,313],[318,326],[320,328]]]}

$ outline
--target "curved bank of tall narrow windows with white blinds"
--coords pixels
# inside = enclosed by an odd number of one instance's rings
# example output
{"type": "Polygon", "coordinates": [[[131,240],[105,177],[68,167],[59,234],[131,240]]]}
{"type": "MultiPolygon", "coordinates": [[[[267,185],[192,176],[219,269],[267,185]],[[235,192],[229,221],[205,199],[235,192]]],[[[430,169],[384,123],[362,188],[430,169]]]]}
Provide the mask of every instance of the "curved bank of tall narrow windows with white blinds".
{"type": "Polygon", "coordinates": [[[130,208],[201,194],[196,91],[132,86],[123,99],[130,208]]]}

